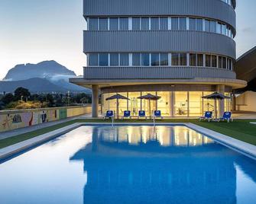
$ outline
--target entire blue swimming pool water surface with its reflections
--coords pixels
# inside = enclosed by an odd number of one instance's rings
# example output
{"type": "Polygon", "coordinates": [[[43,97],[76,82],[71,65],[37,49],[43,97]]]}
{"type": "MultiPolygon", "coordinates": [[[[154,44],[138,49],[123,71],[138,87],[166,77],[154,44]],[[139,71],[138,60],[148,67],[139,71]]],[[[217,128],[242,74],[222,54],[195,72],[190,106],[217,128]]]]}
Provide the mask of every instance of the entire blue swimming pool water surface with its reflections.
{"type": "Polygon", "coordinates": [[[186,126],[82,126],[0,164],[0,203],[256,203],[256,161],[186,126]]]}

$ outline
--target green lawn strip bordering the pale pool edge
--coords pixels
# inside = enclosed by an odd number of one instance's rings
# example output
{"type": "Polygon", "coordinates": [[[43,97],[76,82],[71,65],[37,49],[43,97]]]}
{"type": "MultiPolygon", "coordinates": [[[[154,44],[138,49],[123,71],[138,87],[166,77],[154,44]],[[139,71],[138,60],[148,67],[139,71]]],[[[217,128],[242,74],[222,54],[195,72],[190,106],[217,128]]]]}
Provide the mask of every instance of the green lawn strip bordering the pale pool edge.
{"type": "MultiPolygon", "coordinates": [[[[68,126],[73,123],[110,123],[108,120],[72,120],[65,123],[60,123],[55,126],[50,126],[44,129],[38,129],[33,132],[24,133],[21,135],[16,135],[8,139],[0,140],[0,148],[5,148],[8,145],[14,145],[15,143],[22,142],[26,139],[31,139],[35,136],[42,135],[47,132],[51,132],[55,129],[60,129],[63,126],[68,126]]],[[[119,120],[115,121],[115,123],[125,123],[125,122],[132,122],[132,123],[152,123],[151,120],[119,120]]],[[[198,120],[191,120],[191,119],[170,119],[170,120],[158,120],[157,122],[160,123],[194,123],[199,126],[203,126],[208,129],[212,129],[216,132],[220,132],[222,134],[231,136],[235,139],[240,139],[241,141],[251,143],[252,145],[256,145],[256,125],[251,124],[250,122],[256,122],[256,120],[235,120],[232,123],[216,123],[216,122],[199,122],[198,120]]]]}

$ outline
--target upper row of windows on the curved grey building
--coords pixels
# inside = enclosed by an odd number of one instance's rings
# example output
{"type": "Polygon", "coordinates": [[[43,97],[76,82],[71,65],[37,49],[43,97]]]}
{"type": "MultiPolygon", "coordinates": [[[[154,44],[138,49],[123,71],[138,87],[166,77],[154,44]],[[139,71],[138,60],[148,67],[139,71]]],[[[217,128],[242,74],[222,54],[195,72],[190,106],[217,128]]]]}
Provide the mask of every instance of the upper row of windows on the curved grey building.
{"type": "Polygon", "coordinates": [[[89,30],[198,30],[234,37],[232,28],[203,18],[89,18],[89,30]]]}

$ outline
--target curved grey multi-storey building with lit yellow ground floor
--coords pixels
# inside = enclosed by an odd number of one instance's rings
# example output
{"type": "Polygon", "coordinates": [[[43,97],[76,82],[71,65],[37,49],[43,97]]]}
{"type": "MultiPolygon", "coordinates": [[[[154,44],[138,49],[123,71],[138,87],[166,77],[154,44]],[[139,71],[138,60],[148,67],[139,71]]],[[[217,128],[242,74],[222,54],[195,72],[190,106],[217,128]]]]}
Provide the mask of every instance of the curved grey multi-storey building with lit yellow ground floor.
{"type": "MultiPolygon", "coordinates": [[[[143,94],[160,96],[151,110],[164,116],[200,116],[213,109],[203,95],[219,91],[229,95],[246,81],[233,71],[236,53],[235,0],[84,0],[87,22],[83,52],[87,57],[83,78],[73,83],[92,87],[93,116],[115,110],[112,94],[121,101],[120,114],[150,108],[143,94]]],[[[230,109],[220,101],[218,112],[230,109]]]]}

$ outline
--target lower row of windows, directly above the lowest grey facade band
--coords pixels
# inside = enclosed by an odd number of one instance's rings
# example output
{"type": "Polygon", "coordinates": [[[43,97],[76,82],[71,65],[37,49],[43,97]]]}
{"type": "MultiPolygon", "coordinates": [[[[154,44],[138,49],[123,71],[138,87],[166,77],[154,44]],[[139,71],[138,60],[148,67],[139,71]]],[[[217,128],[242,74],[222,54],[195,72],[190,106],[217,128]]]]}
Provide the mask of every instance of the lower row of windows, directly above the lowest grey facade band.
{"type": "Polygon", "coordinates": [[[205,66],[232,70],[232,59],[199,53],[90,53],[89,66],[205,66]]]}

